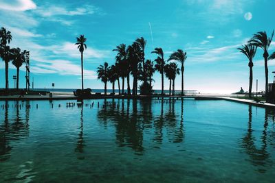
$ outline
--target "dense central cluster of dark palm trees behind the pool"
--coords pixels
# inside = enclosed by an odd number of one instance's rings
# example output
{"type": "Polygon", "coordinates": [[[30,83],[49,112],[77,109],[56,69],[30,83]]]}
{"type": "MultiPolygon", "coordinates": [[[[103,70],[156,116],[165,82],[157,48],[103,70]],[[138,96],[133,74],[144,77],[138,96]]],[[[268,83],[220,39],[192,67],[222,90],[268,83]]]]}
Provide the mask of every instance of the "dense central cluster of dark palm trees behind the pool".
{"type": "Polygon", "coordinates": [[[170,81],[169,95],[175,94],[175,77],[181,71],[181,95],[184,95],[184,62],[186,61],[186,52],[178,49],[173,52],[168,60],[164,60],[164,51],[157,47],[151,53],[155,53],[157,58],[154,61],[146,60],[144,50],[146,40],[141,37],[137,38],[132,45],[126,47],[125,44],[120,44],[113,51],[116,51],[115,64],[109,66],[107,62],[100,65],[97,69],[98,79],[104,83],[104,94],[107,94],[107,82],[113,85],[113,93],[115,82],[118,82],[119,94],[124,93],[124,84],[126,79],[127,95],[137,95],[137,82],[141,81],[140,94],[151,95],[153,73],[155,71],[162,75],[162,95],[164,95],[164,75],[170,81]],[[181,69],[177,67],[175,62],[181,63],[181,69]],[[130,88],[130,76],[133,77],[133,88],[130,88]],[[122,92],[120,92],[120,78],[122,80],[122,92]],[[171,87],[173,82],[173,89],[171,87]],[[173,92],[171,92],[173,90],[173,92]]]}

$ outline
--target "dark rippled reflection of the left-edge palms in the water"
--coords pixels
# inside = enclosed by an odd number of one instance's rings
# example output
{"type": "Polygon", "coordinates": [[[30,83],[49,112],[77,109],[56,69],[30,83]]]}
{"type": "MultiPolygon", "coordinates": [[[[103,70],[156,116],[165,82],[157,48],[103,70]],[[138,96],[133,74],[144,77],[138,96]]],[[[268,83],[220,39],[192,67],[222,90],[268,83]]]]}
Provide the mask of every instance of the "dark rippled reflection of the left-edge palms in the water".
{"type": "Polygon", "coordinates": [[[29,134],[29,112],[26,108],[25,111],[25,120],[21,119],[20,110],[21,107],[19,101],[15,105],[10,105],[8,101],[5,101],[4,104],[4,121],[0,125],[0,161],[5,161],[10,158],[10,151],[12,150],[11,143],[17,141],[29,134]],[[15,118],[9,120],[9,110],[15,108],[15,118]],[[13,121],[13,122],[12,122],[13,121]],[[25,121],[25,123],[23,123],[25,121]],[[10,123],[12,122],[12,123],[10,123]]]}

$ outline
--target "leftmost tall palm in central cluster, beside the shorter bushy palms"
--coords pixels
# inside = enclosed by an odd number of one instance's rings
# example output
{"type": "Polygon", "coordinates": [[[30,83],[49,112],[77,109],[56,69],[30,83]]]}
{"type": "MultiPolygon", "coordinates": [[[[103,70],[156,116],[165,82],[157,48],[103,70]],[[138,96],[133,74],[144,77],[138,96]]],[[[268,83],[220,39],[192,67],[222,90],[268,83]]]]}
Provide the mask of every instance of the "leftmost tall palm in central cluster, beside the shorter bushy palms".
{"type": "Polygon", "coordinates": [[[126,64],[126,45],[120,44],[113,51],[117,51],[117,55],[115,56],[115,62],[120,69],[120,77],[122,77],[122,94],[124,94],[124,80],[127,73],[127,64],[126,64]]]}

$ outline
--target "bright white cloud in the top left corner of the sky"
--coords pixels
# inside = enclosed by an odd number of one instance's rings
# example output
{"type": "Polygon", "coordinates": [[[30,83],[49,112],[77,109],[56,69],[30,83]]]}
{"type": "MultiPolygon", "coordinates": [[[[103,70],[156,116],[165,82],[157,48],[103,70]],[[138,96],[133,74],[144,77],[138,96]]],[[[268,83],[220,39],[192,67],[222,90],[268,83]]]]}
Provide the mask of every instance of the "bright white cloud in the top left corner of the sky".
{"type": "Polygon", "coordinates": [[[0,2],[0,9],[22,12],[36,9],[36,4],[32,0],[16,0],[13,2],[3,0],[0,2]]]}

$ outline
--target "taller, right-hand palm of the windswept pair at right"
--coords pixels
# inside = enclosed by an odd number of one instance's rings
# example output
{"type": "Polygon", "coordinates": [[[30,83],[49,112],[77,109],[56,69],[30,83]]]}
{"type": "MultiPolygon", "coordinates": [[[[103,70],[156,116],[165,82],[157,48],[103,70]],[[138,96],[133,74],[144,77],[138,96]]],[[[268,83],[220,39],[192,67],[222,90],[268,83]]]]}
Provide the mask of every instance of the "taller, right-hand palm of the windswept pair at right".
{"type": "Polygon", "coordinates": [[[272,36],[270,38],[267,37],[266,32],[257,32],[257,34],[254,34],[254,36],[249,41],[252,45],[263,49],[263,58],[265,59],[265,92],[267,91],[268,85],[268,49],[270,48],[270,43],[272,42],[273,36],[274,31],[272,32],[272,36]]]}

